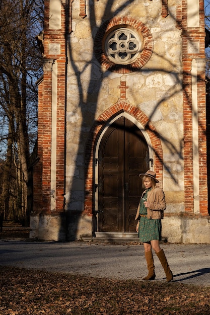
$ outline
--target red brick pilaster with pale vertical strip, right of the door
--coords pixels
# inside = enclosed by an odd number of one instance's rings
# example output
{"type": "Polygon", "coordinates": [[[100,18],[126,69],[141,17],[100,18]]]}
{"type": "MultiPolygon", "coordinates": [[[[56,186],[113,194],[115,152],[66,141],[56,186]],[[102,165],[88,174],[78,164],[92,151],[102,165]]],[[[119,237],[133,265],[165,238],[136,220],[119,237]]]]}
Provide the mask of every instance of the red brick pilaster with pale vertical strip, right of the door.
{"type": "Polygon", "coordinates": [[[205,69],[199,66],[199,60],[205,62],[203,10],[203,0],[183,0],[179,26],[183,47],[185,211],[207,214],[205,69]]]}

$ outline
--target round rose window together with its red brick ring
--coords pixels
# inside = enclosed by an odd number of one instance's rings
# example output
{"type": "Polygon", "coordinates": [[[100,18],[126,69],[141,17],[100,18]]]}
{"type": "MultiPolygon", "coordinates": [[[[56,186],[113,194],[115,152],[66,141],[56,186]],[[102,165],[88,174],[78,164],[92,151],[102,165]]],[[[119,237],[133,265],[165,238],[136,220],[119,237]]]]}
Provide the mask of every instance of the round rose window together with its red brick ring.
{"type": "Polygon", "coordinates": [[[96,33],[94,52],[107,70],[118,73],[138,71],[153,53],[153,36],[138,19],[114,17],[105,21],[96,33]]]}

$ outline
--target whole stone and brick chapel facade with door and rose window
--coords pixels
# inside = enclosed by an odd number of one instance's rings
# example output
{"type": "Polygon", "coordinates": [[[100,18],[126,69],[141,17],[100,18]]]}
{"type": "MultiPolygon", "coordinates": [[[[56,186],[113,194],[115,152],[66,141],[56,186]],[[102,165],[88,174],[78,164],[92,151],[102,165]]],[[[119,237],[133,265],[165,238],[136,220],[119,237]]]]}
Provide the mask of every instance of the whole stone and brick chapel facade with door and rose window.
{"type": "Polygon", "coordinates": [[[30,237],[135,232],[156,172],[168,242],[210,243],[203,0],[45,0],[30,237]]]}

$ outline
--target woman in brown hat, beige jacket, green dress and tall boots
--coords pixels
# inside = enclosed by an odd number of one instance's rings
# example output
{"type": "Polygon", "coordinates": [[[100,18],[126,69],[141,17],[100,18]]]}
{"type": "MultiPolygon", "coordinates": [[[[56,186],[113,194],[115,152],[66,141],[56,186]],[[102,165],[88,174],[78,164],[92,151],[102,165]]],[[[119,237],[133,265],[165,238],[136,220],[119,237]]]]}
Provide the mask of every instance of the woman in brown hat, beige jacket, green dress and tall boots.
{"type": "Polygon", "coordinates": [[[148,275],[143,280],[155,279],[155,266],[153,260],[152,249],[156,252],[166,274],[167,282],[173,279],[172,271],[169,268],[164,251],[160,248],[161,241],[161,219],[163,219],[163,211],[166,209],[165,195],[161,188],[156,187],[159,181],[153,171],[147,171],[145,174],[139,174],[143,179],[142,194],[138,205],[135,219],[138,219],[136,231],[139,240],[143,242],[145,249],[145,258],[148,266],[148,275]]]}

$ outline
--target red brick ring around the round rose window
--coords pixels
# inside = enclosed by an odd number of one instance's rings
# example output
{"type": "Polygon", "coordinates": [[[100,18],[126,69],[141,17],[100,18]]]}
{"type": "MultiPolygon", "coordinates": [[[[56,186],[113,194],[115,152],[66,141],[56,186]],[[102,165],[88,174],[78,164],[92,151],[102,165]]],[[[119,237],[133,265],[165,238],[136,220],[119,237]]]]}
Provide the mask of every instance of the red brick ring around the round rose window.
{"type": "Polygon", "coordinates": [[[153,36],[147,26],[140,20],[133,19],[130,17],[116,17],[106,21],[99,29],[95,37],[94,51],[98,61],[106,69],[118,72],[118,73],[129,73],[137,71],[142,68],[150,59],[153,52],[153,36]],[[109,34],[113,29],[118,27],[131,26],[141,36],[144,37],[144,48],[139,54],[139,57],[130,64],[115,64],[111,62],[106,56],[103,44],[105,41],[106,34],[109,34]]]}

